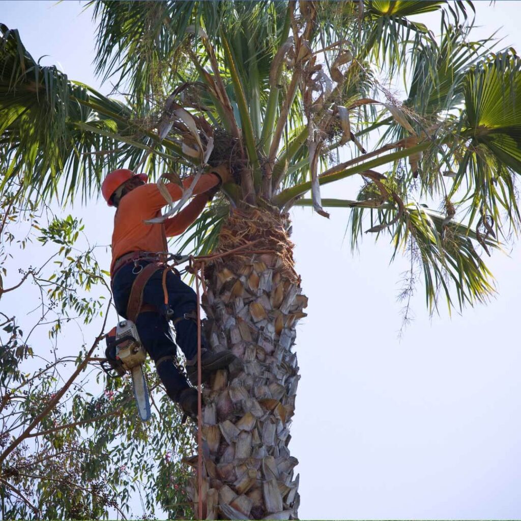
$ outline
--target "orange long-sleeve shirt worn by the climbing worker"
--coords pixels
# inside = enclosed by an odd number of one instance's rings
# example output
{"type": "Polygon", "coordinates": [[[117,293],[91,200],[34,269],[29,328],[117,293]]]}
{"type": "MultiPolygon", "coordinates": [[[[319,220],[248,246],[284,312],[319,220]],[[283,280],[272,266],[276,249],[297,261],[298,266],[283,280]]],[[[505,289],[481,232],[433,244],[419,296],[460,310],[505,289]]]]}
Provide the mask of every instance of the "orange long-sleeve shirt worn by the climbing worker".
{"type": "MultiPolygon", "coordinates": [[[[183,180],[183,186],[188,188],[193,178],[183,180]]],[[[144,184],[134,188],[121,198],[114,216],[114,232],[112,234],[112,262],[110,276],[116,260],[130,252],[162,252],[165,251],[166,237],[179,235],[186,230],[201,214],[208,201],[204,193],[215,187],[220,179],[214,173],[205,173],[197,181],[194,188],[194,199],[176,216],[167,219],[164,224],[147,225],[143,221],[161,215],[161,208],[166,201],[155,183],[144,184]]],[[[175,183],[166,183],[166,188],[173,201],[179,201],[181,188],[175,183]]]]}

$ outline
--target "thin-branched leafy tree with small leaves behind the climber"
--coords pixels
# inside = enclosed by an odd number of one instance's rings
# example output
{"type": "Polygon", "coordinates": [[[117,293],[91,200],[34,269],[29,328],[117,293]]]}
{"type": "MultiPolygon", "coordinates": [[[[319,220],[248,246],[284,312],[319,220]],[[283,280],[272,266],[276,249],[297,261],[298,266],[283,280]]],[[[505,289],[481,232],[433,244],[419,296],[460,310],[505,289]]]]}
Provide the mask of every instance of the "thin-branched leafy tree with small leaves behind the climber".
{"type": "Polygon", "coordinates": [[[157,377],[148,380],[155,414],[146,424],[135,421],[130,380],[103,382],[110,288],[86,242],[81,220],[4,194],[0,517],[125,519],[139,514],[139,497],[151,517],[160,505],[168,518],[186,518],[179,460],[194,450],[192,433],[157,377]]]}

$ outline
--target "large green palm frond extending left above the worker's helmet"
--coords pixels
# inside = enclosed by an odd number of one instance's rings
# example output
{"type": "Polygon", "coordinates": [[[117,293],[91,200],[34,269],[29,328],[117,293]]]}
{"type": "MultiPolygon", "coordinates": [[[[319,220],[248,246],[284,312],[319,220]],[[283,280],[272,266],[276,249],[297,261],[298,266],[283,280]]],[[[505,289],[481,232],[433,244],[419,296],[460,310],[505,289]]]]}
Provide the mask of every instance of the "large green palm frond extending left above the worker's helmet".
{"type": "MultiPolygon", "coordinates": [[[[0,33],[0,190],[21,182],[35,199],[90,197],[107,169],[133,168],[151,147],[170,167],[187,164],[177,143],[160,143],[154,118],[40,66],[18,31],[0,33]]],[[[145,169],[154,175],[155,159],[145,169]]]]}

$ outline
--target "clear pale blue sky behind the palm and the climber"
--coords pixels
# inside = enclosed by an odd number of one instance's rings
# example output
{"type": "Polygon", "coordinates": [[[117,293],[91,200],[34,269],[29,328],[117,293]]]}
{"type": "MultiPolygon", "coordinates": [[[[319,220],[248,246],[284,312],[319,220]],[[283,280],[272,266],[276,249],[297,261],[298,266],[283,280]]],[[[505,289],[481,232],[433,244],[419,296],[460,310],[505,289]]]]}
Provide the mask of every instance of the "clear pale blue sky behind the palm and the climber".
{"type": "MultiPolygon", "coordinates": [[[[501,46],[521,51],[521,3],[475,5],[476,38],[502,27],[501,46]]],[[[96,86],[95,26],[82,9],[3,1],[0,21],[19,29],[34,58],[48,55],[44,65],[96,86]]],[[[322,190],[322,197],[355,195],[349,182],[322,190]]],[[[353,255],[344,239],[348,210],[330,213],[326,220],[292,210],[296,269],[309,297],[297,329],[301,380],[290,443],[300,461],[300,517],[521,518],[519,246],[489,259],[498,296],[487,306],[452,318],[441,307],[430,318],[418,284],[415,320],[400,341],[396,296],[407,259],[390,265],[391,246],[368,235],[353,255]]],[[[84,218],[91,244],[110,243],[113,210],[103,200],[77,204],[73,214],[84,218]]],[[[28,253],[34,264],[38,249],[28,253]]],[[[108,268],[105,248],[97,258],[108,268]]],[[[16,270],[10,274],[7,287],[18,281],[16,270]]],[[[75,351],[81,338],[71,333],[67,341],[75,351]]]]}

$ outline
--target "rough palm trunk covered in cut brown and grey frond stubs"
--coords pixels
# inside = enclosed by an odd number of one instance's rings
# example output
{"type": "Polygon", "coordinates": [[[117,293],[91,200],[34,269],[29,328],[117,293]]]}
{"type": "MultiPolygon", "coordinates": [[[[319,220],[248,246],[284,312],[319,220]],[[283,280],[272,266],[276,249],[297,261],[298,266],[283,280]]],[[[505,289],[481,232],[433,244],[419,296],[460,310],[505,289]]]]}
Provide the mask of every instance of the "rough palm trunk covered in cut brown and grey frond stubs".
{"type": "MultiPolygon", "coordinates": [[[[270,253],[226,256],[205,268],[205,334],[212,349],[240,361],[217,371],[203,390],[203,517],[295,519],[298,463],[289,427],[299,380],[295,324],[307,298],[293,269],[285,217],[235,211],[220,252],[251,241],[270,253]]],[[[250,250],[252,249],[250,248],[250,250]]],[[[197,479],[189,490],[197,512],[197,479]]]]}

